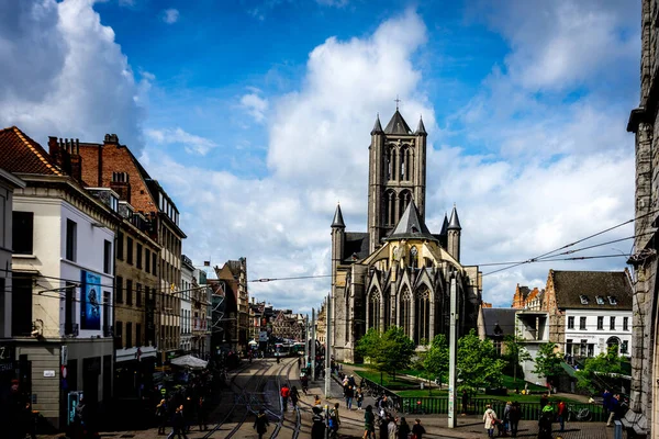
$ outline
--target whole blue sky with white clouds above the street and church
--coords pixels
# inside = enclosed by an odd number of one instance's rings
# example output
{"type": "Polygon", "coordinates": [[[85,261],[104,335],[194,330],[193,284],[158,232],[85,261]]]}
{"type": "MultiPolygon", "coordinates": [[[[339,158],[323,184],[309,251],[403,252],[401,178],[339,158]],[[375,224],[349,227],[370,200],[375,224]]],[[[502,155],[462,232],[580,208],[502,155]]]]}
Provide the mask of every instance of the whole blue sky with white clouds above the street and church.
{"type": "MultiPolygon", "coordinates": [[[[245,256],[252,279],[328,273],[336,202],[348,230],[365,229],[369,132],[396,94],[429,133],[428,226],[457,204],[463,263],[525,260],[634,215],[637,1],[0,5],[0,55],[14,61],[0,72],[0,123],[42,145],[116,133],[177,201],[196,262],[245,256]]],[[[621,270],[624,258],[485,275],[484,300],[510,306],[516,283],[541,288],[551,268],[621,270]]],[[[305,312],[328,289],[250,293],[305,312]]]]}

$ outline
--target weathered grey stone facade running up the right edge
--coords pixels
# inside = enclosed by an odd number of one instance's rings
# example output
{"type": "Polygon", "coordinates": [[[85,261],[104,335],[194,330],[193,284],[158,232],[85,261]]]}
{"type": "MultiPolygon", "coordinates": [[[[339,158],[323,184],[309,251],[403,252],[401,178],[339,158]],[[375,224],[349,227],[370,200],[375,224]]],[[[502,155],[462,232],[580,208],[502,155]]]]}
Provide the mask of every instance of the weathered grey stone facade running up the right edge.
{"type": "Polygon", "coordinates": [[[659,225],[659,1],[641,1],[640,102],[627,131],[635,134],[636,192],[634,223],[634,338],[629,407],[635,428],[659,438],[659,300],[657,226],[659,225]]]}

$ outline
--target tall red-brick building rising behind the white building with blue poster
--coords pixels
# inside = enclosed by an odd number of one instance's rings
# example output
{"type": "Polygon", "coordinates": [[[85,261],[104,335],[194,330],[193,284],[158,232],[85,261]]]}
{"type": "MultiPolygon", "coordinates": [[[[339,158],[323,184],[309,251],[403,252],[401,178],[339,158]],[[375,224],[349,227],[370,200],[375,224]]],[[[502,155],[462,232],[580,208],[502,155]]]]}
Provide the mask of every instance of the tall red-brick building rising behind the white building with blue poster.
{"type": "MultiPolygon", "coordinates": [[[[81,143],[82,179],[91,185],[114,190],[120,200],[148,221],[149,237],[157,243],[158,285],[155,295],[155,345],[159,359],[176,356],[180,346],[181,244],[186,234],[179,226],[174,201],[139,164],[131,150],[107,134],[102,144],[81,143]]],[[[126,237],[127,239],[127,237],[126,237]]],[[[126,240],[127,243],[127,240],[126,240]]],[[[153,269],[153,252],[152,252],[153,269]]]]}

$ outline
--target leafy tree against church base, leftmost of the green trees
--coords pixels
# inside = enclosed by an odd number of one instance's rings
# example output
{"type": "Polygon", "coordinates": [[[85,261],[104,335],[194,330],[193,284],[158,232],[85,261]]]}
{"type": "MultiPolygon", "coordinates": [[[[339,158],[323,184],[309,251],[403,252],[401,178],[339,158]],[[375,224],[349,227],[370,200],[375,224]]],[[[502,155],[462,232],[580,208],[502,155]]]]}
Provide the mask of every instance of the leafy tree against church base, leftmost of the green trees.
{"type": "Polygon", "coordinates": [[[402,328],[392,326],[383,334],[369,329],[357,342],[356,351],[368,359],[371,368],[395,375],[396,370],[410,365],[415,348],[402,328]]]}

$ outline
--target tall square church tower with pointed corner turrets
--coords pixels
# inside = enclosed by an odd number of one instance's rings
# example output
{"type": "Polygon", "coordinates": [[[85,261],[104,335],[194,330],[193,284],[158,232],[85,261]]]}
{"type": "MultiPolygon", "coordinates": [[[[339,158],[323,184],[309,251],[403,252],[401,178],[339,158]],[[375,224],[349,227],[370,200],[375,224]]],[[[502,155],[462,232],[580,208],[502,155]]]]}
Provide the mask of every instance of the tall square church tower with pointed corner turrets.
{"type": "Polygon", "coordinates": [[[372,252],[382,244],[412,200],[425,222],[426,137],[423,119],[412,132],[398,105],[382,130],[371,131],[368,172],[368,235],[372,252]]]}

